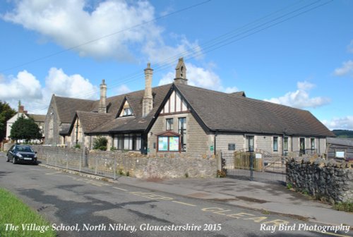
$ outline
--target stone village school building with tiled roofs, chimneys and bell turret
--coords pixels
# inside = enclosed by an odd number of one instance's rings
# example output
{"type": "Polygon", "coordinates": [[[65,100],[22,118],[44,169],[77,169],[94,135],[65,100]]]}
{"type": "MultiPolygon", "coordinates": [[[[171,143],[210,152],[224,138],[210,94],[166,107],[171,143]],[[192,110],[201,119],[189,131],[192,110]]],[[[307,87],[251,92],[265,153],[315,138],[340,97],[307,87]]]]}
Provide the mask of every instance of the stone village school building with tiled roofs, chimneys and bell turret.
{"type": "Polygon", "coordinates": [[[145,90],[100,100],[53,95],[46,119],[46,142],[92,148],[97,135],[108,148],[143,153],[214,154],[217,150],[263,150],[272,154],[323,154],[335,135],[309,111],[188,85],[179,59],[174,83],[152,87],[145,68],[145,90]]]}

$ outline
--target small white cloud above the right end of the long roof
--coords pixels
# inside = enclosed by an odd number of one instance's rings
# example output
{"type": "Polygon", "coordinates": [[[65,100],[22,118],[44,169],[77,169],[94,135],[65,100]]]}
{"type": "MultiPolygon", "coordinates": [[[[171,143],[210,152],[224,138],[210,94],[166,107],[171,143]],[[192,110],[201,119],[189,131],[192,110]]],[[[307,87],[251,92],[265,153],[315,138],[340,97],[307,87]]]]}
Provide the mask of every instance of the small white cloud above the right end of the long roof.
{"type": "Polygon", "coordinates": [[[299,109],[304,108],[316,108],[321,107],[324,104],[330,102],[329,98],[326,97],[310,97],[309,90],[315,85],[312,83],[298,82],[297,90],[294,92],[287,92],[286,95],[278,98],[264,99],[267,102],[273,102],[275,104],[284,104],[289,107],[295,107],[299,109]]]}

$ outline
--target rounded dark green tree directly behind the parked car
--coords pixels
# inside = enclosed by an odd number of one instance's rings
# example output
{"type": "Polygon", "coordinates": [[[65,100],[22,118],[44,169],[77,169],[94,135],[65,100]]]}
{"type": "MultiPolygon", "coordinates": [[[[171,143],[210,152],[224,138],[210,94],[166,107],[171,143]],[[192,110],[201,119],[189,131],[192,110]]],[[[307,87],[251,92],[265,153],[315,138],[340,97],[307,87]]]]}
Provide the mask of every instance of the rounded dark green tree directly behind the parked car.
{"type": "Polygon", "coordinates": [[[29,142],[32,139],[41,139],[42,133],[40,133],[40,127],[32,118],[25,119],[25,117],[20,116],[11,127],[10,138],[29,142]]]}

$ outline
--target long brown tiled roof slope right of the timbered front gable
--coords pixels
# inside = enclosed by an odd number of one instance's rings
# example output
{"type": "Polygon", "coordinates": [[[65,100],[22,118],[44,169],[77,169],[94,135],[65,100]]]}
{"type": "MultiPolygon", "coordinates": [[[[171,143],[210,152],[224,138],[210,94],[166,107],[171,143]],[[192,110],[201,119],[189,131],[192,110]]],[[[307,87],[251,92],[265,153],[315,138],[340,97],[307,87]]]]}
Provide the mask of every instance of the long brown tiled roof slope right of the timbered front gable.
{"type": "Polygon", "coordinates": [[[335,136],[309,111],[190,85],[175,87],[210,130],[335,136]]]}

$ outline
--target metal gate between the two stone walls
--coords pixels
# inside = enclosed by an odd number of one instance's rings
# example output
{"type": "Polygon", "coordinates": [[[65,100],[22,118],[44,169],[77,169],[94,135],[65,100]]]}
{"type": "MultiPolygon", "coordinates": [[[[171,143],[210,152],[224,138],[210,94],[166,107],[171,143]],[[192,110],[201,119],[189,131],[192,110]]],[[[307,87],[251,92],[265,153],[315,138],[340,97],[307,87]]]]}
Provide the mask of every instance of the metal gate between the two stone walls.
{"type": "Polygon", "coordinates": [[[228,177],[285,184],[285,157],[263,150],[222,152],[222,169],[228,177]]]}

